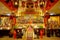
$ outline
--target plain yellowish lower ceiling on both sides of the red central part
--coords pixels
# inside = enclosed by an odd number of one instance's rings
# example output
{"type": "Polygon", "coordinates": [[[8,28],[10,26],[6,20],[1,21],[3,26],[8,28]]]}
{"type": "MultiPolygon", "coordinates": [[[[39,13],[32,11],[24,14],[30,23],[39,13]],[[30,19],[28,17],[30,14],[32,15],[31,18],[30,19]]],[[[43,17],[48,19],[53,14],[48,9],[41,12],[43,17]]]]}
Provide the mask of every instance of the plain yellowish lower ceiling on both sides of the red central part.
{"type": "MultiPolygon", "coordinates": [[[[0,2],[0,14],[3,12],[10,13],[11,11],[0,2]]],[[[60,14],[60,0],[50,9],[49,13],[60,14]]]]}

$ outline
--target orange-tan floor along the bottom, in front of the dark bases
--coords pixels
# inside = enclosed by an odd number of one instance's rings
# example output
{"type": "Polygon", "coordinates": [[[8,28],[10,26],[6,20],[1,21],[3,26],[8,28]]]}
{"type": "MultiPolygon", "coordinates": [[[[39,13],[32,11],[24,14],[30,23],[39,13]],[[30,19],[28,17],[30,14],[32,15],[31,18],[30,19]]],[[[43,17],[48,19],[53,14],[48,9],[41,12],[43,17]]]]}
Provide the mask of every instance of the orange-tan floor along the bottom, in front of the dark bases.
{"type": "MultiPolygon", "coordinates": [[[[9,38],[7,36],[3,37],[3,38],[0,38],[0,40],[14,40],[13,38],[9,38]]],[[[16,39],[16,40],[26,40],[26,39],[16,39]]],[[[43,37],[43,38],[40,38],[40,39],[34,39],[34,40],[60,40],[59,37],[43,37]]]]}

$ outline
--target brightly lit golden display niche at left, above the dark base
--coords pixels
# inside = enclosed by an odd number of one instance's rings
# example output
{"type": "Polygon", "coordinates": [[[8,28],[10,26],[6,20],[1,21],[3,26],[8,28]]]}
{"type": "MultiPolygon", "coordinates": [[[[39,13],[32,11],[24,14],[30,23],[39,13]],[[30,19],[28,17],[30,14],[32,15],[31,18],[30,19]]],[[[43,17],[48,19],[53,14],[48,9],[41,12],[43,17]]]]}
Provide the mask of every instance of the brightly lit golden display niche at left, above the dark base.
{"type": "Polygon", "coordinates": [[[11,29],[11,21],[9,20],[9,17],[1,17],[1,27],[2,29],[9,30],[11,29]]]}

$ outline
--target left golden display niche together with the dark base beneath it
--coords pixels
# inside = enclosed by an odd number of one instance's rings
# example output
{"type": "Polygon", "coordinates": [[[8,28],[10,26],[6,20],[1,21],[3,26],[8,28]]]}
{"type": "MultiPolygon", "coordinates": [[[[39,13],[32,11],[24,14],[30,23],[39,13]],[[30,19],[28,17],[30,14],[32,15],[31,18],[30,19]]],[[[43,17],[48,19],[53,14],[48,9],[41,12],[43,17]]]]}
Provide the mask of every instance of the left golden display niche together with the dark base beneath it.
{"type": "Polygon", "coordinates": [[[12,25],[9,17],[0,17],[0,36],[7,36],[9,35],[12,25]]]}

